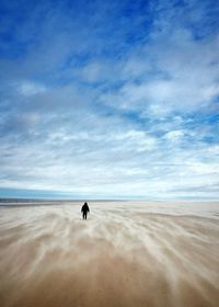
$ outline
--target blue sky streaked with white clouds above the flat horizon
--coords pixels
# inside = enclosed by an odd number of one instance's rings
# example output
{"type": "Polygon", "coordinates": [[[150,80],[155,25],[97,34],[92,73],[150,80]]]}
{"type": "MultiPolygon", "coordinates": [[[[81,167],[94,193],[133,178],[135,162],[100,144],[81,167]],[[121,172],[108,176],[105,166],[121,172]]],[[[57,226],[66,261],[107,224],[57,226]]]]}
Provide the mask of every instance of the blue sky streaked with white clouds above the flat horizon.
{"type": "Polygon", "coordinates": [[[1,0],[0,197],[219,200],[218,15],[1,0]]]}

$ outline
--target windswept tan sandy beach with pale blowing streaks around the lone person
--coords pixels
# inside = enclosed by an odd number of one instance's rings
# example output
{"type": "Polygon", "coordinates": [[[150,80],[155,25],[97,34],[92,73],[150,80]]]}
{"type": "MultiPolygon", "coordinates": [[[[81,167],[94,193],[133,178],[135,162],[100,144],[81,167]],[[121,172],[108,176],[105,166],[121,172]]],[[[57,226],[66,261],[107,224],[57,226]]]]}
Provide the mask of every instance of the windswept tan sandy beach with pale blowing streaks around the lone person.
{"type": "Polygon", "coordinates": [[[219,204],[0,208],[1,307],[218,306],[219,204]]]}

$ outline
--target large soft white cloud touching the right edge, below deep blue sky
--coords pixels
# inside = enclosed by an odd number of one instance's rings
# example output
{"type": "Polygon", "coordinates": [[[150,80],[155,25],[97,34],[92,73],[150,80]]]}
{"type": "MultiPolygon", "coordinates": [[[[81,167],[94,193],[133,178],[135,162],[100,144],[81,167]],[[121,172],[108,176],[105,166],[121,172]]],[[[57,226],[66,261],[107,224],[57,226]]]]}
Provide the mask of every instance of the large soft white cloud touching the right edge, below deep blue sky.
{"type": "Polygon", "coordinates": [[[197,41],[191,32],[177,27],[171,35],[157,33],[140,53],[132,52],[127,59],[120,72],[125,84],[104,93],[101,101],[158,117],[206,112],[215,107],[219,94],[218,47],[217,36],[197,41]]]}

